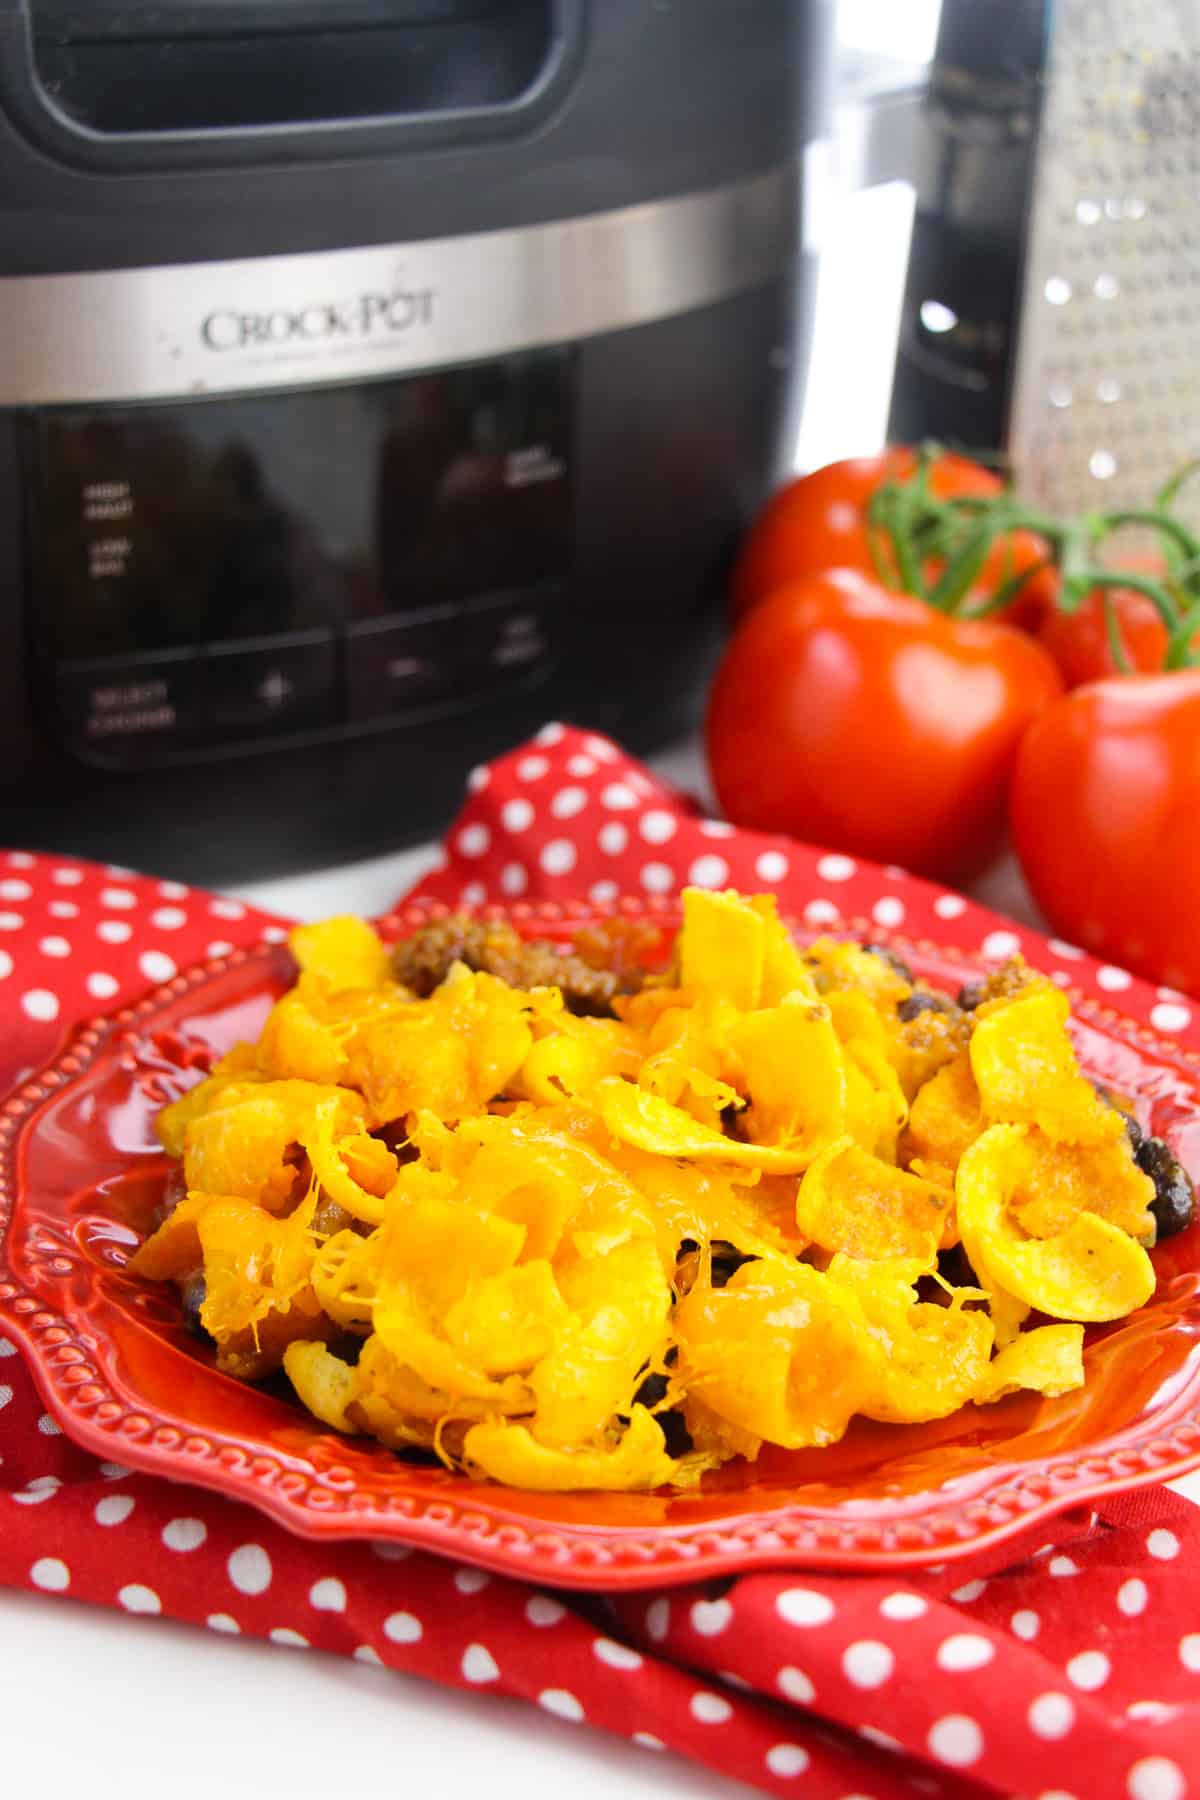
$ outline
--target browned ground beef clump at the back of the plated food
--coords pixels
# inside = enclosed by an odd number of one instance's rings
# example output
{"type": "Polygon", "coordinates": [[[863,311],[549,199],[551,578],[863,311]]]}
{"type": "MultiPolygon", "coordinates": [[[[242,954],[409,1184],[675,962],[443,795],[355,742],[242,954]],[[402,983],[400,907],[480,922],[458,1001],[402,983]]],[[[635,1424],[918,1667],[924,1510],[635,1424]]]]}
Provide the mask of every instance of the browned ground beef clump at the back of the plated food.
{"type": "Polygon", "coordinates": [[[498,976],[513,988],[561,988],[570,1012],[599,1017],[612,1017],[615,995],[633,994],[642,983],[640,970],[594,968],[556,943],[527,941],[504,922],[455,913],[423,925],[392,950],[392,974],[421,997],[446,979],[452,963],[498,976]]]}

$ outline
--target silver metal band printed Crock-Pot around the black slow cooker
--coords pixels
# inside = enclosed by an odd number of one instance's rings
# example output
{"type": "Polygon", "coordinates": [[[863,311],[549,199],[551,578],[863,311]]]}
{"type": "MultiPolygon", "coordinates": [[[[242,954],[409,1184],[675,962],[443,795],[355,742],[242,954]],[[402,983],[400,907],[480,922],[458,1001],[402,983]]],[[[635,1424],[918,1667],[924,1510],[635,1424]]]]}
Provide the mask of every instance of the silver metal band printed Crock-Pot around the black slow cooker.
{"type": "Polygon", "coordinates": [[[363,380],[649,324],[797,247],[799,171],[551,225],[0,279],[0,405],[363,380]]]}

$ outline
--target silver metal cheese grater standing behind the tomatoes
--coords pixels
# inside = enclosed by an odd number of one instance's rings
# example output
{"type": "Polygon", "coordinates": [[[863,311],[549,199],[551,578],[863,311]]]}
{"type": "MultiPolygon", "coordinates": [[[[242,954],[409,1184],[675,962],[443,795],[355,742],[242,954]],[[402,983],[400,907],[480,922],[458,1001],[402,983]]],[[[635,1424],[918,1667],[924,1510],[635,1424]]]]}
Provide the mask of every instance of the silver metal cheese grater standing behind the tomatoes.
{"type": "Polygon", "coordinates": [[[1198,184],[1200,0],[1054,0],[1007,446],[1056,511],[1200,452],[1198,184]]]}

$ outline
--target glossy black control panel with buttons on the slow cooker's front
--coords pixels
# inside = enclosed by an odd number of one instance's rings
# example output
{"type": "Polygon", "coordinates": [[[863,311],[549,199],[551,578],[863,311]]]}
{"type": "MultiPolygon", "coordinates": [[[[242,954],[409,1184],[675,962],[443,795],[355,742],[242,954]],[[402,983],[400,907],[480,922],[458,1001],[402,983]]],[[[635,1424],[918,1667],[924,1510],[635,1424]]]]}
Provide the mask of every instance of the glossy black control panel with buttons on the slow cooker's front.
{"type": "Polygon", "coordinates": [[[466,702],[543,662],[570,371],[538,351],[38,414],[32,628],[68,736],[185,752],[466,702]]]}

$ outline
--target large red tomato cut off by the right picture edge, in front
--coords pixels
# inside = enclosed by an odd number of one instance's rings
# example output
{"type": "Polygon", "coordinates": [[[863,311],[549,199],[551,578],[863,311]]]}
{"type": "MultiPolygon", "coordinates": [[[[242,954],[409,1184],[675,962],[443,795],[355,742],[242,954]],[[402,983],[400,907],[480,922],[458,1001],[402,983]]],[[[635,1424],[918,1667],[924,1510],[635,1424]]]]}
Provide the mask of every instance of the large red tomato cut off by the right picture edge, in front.
{"type": "Polygon", "coordinates": [[[1054,931],[1200,992],[1200,670],[1052,706],[1020,747],[1011,823],[1054,931]]]}

